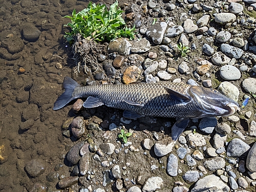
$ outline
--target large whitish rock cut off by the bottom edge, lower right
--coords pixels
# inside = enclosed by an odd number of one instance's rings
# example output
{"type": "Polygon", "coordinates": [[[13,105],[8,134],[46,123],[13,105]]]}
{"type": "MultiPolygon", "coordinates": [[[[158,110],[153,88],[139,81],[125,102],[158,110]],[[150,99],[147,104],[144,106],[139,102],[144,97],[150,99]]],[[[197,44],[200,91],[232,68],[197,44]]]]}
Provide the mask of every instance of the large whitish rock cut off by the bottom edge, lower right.
{"type": "Polygon", "coordinates": [[[229,187],[215,175],[208,175],[198,180],[191,192],[196,191],[229,191],[229,187]]]}

